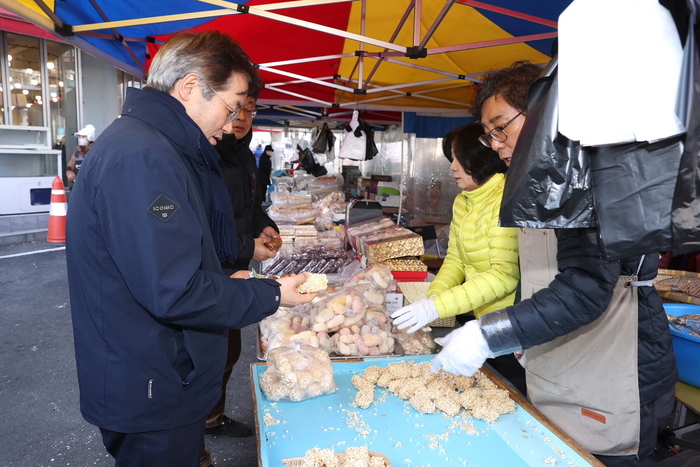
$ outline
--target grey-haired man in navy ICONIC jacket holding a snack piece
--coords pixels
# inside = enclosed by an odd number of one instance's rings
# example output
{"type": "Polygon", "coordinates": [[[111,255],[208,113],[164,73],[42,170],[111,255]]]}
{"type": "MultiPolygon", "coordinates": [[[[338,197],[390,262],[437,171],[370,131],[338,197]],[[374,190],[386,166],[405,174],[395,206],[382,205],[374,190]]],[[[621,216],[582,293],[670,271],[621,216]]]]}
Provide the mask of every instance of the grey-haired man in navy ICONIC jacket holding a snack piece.
{"type": "Polygon", "coordinates": [[[218,32],[178,34],[100,135],[67,220],[83,417],[117,467],[195,467],[221,398],[229,329],[306,303],[307,274],[233,279],[233,210],[216,150],[257,72],[218,32]]]}

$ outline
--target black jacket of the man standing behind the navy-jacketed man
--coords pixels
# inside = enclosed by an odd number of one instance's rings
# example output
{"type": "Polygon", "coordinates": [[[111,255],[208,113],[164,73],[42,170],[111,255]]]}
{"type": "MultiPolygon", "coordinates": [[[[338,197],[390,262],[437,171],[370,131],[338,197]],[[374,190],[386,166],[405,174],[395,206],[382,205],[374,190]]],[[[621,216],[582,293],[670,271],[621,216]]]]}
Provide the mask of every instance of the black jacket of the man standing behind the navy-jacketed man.
{"type": "Polygon", "coordinates": [[[249,148],[252,139],[252,131],[240,141],[234,135],[224,135],[216,145],[221,156],[219,165],[224,174],[224,182],[231,195],[238,236],[238,259],[235,264],[224,264],[227,269],[248,269],[255,252],[255,239],[263,229],[271,226],[279,231],[262,208],[265,193],[260,193],[258,189],[258,169],[255,156],[249,148]]]}

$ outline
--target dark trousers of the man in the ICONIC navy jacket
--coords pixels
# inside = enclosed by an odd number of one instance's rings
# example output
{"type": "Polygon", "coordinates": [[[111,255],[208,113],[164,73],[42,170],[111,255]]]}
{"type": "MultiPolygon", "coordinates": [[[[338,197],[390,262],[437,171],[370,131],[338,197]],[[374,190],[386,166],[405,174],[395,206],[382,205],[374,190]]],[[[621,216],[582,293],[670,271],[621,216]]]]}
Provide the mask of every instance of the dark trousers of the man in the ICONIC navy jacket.
{"type": "Polygon", "coordinates": [[[203,417],[191,425],[145,433],[100,432],[116,467],[198,467],[205,421],[203,417]]]}

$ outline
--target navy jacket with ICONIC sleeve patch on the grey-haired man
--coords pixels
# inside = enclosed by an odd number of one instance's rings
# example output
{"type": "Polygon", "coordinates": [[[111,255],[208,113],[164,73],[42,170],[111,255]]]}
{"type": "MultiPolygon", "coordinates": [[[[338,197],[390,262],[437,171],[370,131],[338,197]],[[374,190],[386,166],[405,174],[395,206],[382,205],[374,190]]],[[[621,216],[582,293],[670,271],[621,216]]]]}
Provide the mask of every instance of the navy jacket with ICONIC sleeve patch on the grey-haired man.
{"type": "Polygon", "coordinates": [[[279,305],[276,281],[222,273],[200,141],[176,99],[130,88],[71,193],[66,257],[80,405],[101,428],[146,432],[204,418],[221,397],[226,329],[279,305]]]}

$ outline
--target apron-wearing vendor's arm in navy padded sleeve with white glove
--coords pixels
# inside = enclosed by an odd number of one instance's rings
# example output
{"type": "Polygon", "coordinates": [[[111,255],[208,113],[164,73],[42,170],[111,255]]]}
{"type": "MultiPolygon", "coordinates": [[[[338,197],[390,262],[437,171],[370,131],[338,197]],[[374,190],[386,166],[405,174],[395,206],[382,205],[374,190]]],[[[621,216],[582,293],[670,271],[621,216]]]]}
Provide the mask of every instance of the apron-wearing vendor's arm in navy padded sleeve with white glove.
{"type": "Polygon", "coordinates": [[[560,273],[548,287],[452,331],[440,342],[443,349],[431,368],[471,376],[487,358],[544,344],[600,317],[612,299],[620,262],[583,253],[581,243],[588,243],[586,237],[595,241],[595,229],[582,231],[557,233],[560,273]]]}

